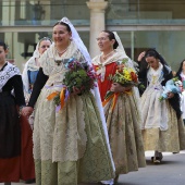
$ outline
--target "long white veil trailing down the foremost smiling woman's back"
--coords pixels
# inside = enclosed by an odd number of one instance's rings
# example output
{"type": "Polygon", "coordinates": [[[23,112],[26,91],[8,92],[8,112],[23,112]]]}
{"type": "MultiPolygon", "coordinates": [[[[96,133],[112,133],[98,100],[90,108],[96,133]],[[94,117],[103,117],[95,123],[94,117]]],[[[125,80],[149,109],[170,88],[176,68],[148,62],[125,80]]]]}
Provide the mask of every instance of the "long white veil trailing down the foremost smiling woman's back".
{"type": "MultiPolygon", "coordinates": [[[[65,23],[65,24],[67,24],[70,26],[71,32],[72,32],[72,39],[76,44],[79,51],[83,53],[83,55],[86,59],[86,61],[88,62],[88,64],[90,66],[92,66],[91,58],[90,58],[90,55],[89,55],[89,53],[87,51],[87,48],[84,45],[83,40],[81,39],[81,37],[79,37],[77,30],[75,29],[75,27],[73,26],[73,24],[69,21],[67,17],[63,17],[60,22],[65,23]]],[[[107,124],[106,124],[106,119],[104,119],[104,112],[103,112],[103,109],[102,109],[100,94],[99,94],[99,89],[98,89],[98,84],[97,84],[97,87],[94,88],[92,92],[95,95],[95,99],[96,99],[96,102],[97,102],[97,106],[98,106],[98,109],[99,109],[99,112],[100,112],[100,116],[101,116],[101,121],[102,121],[102,125],[103,125],[103,131],[104,131],[104,135],[106,135],[106,139],[107,139],[107,145],[108,145],[112,166],[114,168],[114,163],[113,163],[113,159],[112,159],[112,155],[111,155],[111,149],[110,149],[110,144],[109,144],[109,137],[108,137],[107,124]]]]}

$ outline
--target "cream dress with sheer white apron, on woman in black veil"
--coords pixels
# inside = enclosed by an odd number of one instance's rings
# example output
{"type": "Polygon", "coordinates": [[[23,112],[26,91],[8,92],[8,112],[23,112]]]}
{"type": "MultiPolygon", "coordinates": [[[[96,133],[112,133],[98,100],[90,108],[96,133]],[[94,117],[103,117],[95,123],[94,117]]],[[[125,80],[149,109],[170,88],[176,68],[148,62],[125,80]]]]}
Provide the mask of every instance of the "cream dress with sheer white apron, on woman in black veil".
{"type": "Polygon", "coordinates": [[[185,133],[182,119],[177,121],[176,112],[168,100],[160,101],[163,88],[163,66],[147,73],[149,86],[141,96],[143,137],[145,150],[178,152],[185,148],[185,133]]]}

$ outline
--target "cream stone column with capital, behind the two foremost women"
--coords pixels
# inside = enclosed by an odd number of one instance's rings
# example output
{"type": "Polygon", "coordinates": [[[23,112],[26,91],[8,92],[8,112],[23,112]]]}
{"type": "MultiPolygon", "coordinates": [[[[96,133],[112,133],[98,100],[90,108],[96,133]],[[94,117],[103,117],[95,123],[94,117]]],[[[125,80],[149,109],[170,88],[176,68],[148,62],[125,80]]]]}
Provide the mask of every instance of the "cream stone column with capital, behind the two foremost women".
{"type": "Polygon", "coordinates": [[[104,0],[89,0],[87,7],[90,9],[90,46],[91,58],[99,54],[99,48],[96,41],[99,33],[104,29],[104,10],[108,2],[104,0]]]}

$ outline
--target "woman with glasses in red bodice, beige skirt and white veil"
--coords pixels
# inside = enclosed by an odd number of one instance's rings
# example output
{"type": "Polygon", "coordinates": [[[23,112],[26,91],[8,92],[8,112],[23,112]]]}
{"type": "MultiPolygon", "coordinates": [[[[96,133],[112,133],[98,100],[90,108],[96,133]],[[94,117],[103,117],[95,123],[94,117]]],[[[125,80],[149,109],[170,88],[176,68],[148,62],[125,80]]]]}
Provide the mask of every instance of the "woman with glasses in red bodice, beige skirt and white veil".
{"type": "Polygon", "coordinates": [[[126,55],[119,35],[103,30],[99,34],[97,42],[101,54],[92,59],[92,64],[99,76],[101,100],[103,106],[106,104],[104,114],[116,175],[114,180],[101,183],[113,184],[118,182],[120,174],[137,171],[146,165],[137,99],[139,95],[135,87],[124,87],[110,81],[109,76],[115,74],[123,61],[124,66],[134,70],[133,61],[126,55]],[[107,99],[107,92],[110,90],[112,95],[107,99]]]}

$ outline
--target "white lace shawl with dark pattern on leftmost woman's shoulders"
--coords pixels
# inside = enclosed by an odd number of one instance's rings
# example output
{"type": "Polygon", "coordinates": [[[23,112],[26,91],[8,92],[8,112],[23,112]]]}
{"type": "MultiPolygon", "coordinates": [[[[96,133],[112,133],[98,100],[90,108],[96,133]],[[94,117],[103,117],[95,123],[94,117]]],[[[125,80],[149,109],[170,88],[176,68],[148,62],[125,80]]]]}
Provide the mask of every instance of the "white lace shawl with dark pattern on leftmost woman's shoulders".
{"type": "Polygon", "coordinates": [[[2,91],[2,87],[14,75],[21,75],[20,70],[8,62],[8,65],[0,72],[0,91],[2,91]]]}

